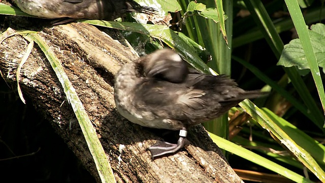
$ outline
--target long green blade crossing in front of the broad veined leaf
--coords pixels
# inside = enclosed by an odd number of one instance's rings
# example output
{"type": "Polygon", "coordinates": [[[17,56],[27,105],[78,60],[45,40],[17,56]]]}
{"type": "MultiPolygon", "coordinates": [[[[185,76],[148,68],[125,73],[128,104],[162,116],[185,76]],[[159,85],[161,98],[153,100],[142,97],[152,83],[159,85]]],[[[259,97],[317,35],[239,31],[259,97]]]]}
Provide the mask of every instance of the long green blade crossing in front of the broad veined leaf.
{"type": "Polygon", "coordinates": [[[306,58],[310,67],[311,74],[314,78],[314,82],[317,88],[317,92],[321,101],[323,112],[325,113],[325,93],[324,87],[322,84],[320,71],[315,55],[315,51],[310,41],[308,28],[306,26],[304,16],[300,10],[299,4],[297,1],[285,0],[291,18],[293,19],[296,31],[298,33],[299,39],[303,46],[303,49],[306,54],[306,58]]]}

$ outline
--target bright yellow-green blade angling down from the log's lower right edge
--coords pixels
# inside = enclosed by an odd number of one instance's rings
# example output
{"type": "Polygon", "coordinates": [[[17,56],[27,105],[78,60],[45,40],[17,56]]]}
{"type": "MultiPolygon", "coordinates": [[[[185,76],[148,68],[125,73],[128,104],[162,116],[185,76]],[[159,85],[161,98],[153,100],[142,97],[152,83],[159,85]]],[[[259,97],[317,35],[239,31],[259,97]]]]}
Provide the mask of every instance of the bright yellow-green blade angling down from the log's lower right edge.
{"type": "Polygon", "coordinates": [[[214,143],[216,143],[220,148],[229,151],[230,153],[233,153],[239,157],[242,157],[248,161],[251,161],[253,163],[256,163],[260,166],[263,166],[269,170],[272,170],[284,177],[287,177],[290,180],[296,181],[296,182],[313,182],[311,180],[308,180],[307,178],[287,169],[284,168],[264,157],[261,157],[255,153],[253,153],[250,150],[247,150],[239,145],[236,145],[233,142],[230,142],[228,140],[225,140],[221,137],[218,137],[212,133],[209,133],[211,136],[211,139],[214,143]]]}

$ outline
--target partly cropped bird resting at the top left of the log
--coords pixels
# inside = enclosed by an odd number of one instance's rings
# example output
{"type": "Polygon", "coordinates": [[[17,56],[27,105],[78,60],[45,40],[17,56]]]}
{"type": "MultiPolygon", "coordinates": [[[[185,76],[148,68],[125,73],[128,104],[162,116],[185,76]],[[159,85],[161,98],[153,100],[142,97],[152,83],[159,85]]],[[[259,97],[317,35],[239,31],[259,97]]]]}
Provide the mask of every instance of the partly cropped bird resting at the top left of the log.
{"type": "Polygon", "coordinates": [[[114,20],[127,12],[154,14],[133,0],[14,0],[21,11],[43,18],[114,20]]]}

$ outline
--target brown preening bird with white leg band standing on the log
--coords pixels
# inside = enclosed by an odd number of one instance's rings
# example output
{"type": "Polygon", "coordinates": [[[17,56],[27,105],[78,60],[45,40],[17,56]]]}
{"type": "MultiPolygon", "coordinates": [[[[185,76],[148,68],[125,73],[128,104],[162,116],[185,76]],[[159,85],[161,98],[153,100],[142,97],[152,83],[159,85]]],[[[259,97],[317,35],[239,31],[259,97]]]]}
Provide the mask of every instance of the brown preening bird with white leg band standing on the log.
{"type": "Polygon", "coordinates": [[[262,96],[245,91],[225,75],[189,69],[172,49],[160,49],[125,64],[115,75],[114,99],[119,113],[143,127],[179,130],[177,144],[157,142],[147,148],[152,159],[176,153],[187,129],[214,119],[239,102],[262,96]]]}

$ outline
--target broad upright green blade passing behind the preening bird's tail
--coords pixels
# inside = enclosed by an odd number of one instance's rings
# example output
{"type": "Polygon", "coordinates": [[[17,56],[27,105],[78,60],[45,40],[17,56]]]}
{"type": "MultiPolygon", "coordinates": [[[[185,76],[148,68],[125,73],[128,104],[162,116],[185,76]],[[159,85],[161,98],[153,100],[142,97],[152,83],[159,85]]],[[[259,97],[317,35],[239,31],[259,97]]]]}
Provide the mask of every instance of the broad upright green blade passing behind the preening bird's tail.
{"type": "MultiPolygon", "coordinates": [[[[202,1],[203,3],[203,1],[202,1]]],[[[219,74],[231,75],[231,53],[232,53],[232,37],[226,37],[227,42],[224,40],[223,32],[225,35],[232,35],[233,30],[233,1],[204,1],[207,7],[216,8],[218,11],[219,23],[215,23],[211,19],[202,19],[202,17],[193,17],[198,19],[196,28],[199,27],[202,32],[202,38],[205,48],[212,56],[211,62],[208,66],[219,74]],[[228,16],[224,20],[224,15],[228,16]],[[225,22],[224,22],[225,21],[225,22]],[[224,24],[225,23],[225,24],[224,24]],[[223,25],[224,24],[224,25],[223,25]],[[222,31],[223,26],[225,30],[222,31]]],[[[216,119],[207,121],[203,124],[209,132],[212,132],[220,137],[228,138],[228,114],[224,114],[216,119]]]]}

